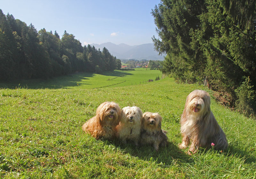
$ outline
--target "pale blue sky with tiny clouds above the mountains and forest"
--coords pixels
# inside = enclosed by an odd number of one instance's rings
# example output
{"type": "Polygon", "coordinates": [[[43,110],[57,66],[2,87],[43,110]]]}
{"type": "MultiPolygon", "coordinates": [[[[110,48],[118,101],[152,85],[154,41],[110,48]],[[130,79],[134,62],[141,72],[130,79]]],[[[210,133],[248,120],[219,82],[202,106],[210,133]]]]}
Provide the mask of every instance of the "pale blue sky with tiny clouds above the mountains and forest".
{"type": "Polygon", "coordinates": [[[0,9],[37,31],[66,30],[76,36],[82,45],[112,42],[128,45],[152,43],[156,34],[151,9],[160,0],[0,0],[0,9]]]}

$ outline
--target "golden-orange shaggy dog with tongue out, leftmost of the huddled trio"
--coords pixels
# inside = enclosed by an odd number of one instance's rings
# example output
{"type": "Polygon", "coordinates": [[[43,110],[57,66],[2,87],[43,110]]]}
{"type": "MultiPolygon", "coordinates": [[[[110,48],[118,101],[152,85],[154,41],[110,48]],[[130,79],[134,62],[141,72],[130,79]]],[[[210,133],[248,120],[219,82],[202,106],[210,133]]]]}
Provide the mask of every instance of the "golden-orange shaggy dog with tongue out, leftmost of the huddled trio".
{"type": "Polygon", "coordinates": [[[116,135],[116,126],[120,122],[121,108],[115,102],[103,102],[96,110],[96,116],[82,126],[83,131],[94,138],[111,139],[116,135]]]}

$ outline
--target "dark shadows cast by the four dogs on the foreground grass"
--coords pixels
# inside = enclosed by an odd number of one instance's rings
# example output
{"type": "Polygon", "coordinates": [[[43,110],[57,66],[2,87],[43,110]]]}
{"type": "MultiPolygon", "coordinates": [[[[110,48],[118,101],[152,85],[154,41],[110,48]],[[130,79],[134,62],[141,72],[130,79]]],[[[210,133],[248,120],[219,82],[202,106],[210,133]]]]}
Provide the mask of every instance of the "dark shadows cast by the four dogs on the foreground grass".
{"type": "MultiPolygon", "coordinates": [[[[136,147],[132,145],[132,143],[123,144],[121,141],[107,141],[109,144],[113,144],[116,147],[122,149],[124,153],[129,153],[134,157],[138,157],[142,160],[147,161],[156,161],[160,167],[169,167],[173,162],[178,163],[195,163],[193,157],[189,156],[187,153],[184,153],[178,145],[173,144],[172,142],[168,142],[166,147],[159,146],[159,151],[156,152],[151,145],[139,146],[136,147]]],[[[200,148],[197,155],[204,155],[209,148],[200,148]]],[[[185,151],[187,152],[187,150],[185,151]]],[[[219,151],[221,153],[221,151],[219,151]]],[[[256,158],[252,155],[248,155],[248,152],[243,151],[234,146],[229,146],[226,151],[224,151],[224,155],[226,156],[234,156],[236,158],[244,160],[245,163],[256,162],[256,158]]]]}

